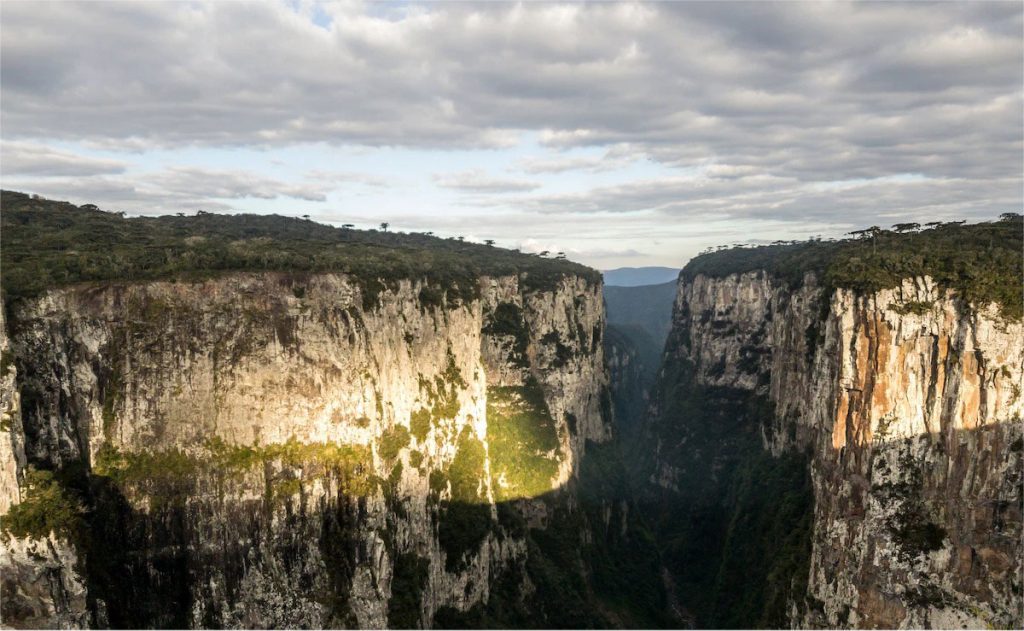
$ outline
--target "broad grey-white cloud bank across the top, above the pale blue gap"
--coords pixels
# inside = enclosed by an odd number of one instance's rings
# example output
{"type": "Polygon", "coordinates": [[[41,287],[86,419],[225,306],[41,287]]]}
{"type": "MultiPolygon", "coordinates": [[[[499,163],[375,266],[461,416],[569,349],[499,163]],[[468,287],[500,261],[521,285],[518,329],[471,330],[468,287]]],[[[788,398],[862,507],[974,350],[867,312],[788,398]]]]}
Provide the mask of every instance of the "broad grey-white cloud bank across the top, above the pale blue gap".
{"type": "Polygon", "coordinates": [[[534,130],[803,179],[1021,171],[1013,3],[342,4],[329,29],[309,11],[12,3],[5,134],[451,149],[534,130]]]}

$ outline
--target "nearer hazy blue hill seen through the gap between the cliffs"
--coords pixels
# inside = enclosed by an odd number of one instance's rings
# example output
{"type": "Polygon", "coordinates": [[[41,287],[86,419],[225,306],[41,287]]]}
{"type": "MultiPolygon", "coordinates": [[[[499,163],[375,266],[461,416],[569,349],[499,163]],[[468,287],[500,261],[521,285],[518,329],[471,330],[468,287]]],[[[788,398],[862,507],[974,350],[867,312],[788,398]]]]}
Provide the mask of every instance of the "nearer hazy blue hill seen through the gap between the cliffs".
{"type": "MultiPolygon", "coordinates": [[[[617,327],[624,335],[632,338],[640,348],[653,346],[655,356],[662,353],[665,339],[672,326],[672,303],[676,299],[676,282],[640,287],[604,286],[604,303],[608,324],[617,327]],[[640,340],[633,335],[642,331],[647,339],[640,340]]],[[[656,361],[653,364],[656,370],[656,361]]]]}

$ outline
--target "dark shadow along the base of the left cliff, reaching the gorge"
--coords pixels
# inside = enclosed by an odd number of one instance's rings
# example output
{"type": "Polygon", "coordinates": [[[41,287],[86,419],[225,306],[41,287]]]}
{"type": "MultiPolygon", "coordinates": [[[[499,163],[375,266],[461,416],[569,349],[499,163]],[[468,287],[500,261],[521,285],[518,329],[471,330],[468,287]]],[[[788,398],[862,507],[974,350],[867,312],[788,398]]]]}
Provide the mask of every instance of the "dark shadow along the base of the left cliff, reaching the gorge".
{"type": "Polygon", "coordinates": [[[611,444],[588,444],[579,478],[541,497],[433,505],[429,528],[445,571],[467,571],[482,545],[494,551],[505,540],[521,542],[525,554],[492,565],[485,602],[465,612],[442,606],[426,621],[430,561],[396,536],[408,498],[385,497],[384,522],[372,525],[367,498],[340,492],[300,492],[283,502],[269,494],[157,494],[133,505],[112,478],[83,466],[59,475],[87,505],[74,543],[97,627],[357,627],[353,577],[359,566],[379,570],[366,537],[371,528],[393,563],[391,627],[678,624],[667,613],[653,538],[611,444]]]}

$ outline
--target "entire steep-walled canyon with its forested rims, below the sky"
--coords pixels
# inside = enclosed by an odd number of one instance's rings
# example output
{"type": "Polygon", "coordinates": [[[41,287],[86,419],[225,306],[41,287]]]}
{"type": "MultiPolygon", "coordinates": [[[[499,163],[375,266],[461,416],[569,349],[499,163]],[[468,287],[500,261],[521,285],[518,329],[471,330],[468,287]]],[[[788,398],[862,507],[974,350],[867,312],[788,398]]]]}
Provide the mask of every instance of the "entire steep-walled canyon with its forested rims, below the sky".
{"type": "Polygon", "coordinates": [[[1024,623],[1024,325],[941,270],[698,257],[652,368],[581,265],[184,217],[38,284],[140,220],[4,195],[5,626],[1024,623]]]}

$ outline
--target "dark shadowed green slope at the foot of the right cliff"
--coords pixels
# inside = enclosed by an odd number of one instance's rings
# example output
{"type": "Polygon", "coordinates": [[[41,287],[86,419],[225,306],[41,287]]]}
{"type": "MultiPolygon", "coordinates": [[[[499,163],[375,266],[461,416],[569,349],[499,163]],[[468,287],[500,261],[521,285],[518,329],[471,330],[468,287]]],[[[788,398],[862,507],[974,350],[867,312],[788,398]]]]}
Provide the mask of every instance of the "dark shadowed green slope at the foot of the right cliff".
{"type": "MultiPolygon", "coordinates": [[[[651,439],[678,491],[648,487],[642,506],[682,605],[698,628],[787,626],[787,603],[802,604],[809,573],[809,457],[773,458],[761,438],[776,422],[767,397],[698,385],[685,357],[666,356],[658,387],[651,439]]],[[[640,489],[658,466],[652,458],[637,451],[640,489]]]]}

